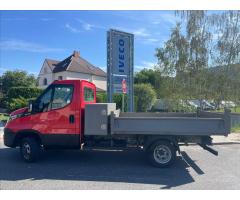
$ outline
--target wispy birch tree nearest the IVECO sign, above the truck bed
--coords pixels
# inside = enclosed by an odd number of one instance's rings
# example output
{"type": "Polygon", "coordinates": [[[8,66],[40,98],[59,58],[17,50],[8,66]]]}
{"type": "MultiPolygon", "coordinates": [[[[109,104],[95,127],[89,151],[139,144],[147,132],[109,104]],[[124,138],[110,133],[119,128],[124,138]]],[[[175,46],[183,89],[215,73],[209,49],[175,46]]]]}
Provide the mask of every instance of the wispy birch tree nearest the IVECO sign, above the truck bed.
{"type": "Polygon", "coordinates": [[[205,11],[177,12],[183,22],[172,29],[170,39],[158,48],[158,66],[163,73],[174,77],[172,98],[206,97],[206,69],[209,66],[211,32],[205,11]]]}

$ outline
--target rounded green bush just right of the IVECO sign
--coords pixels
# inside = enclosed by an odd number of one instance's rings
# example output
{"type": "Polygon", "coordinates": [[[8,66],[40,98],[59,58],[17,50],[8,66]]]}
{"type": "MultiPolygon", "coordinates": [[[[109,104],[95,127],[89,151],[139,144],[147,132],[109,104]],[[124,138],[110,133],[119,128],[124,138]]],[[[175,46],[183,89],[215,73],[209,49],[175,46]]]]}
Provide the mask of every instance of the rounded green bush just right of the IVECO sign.
{"type": "Polygon", "coordinates": [[[138,112],[149,110],[156,99],[156,92],[150,84],[134,85],[134,94],[137,97],[136,109],[138,112]]]}

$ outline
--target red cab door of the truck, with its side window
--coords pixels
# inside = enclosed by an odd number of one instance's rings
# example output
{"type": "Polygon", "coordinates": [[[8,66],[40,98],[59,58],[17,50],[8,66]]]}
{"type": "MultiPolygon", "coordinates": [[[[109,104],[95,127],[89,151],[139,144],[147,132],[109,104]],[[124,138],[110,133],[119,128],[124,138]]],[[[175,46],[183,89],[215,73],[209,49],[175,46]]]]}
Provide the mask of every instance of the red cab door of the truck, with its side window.
{"type": "Polygon", "coordinates": [[[32,115],[34,129],[40,130],[46,146],[77,147],[74,85],[53,84],[37,99],[32,115]]]}

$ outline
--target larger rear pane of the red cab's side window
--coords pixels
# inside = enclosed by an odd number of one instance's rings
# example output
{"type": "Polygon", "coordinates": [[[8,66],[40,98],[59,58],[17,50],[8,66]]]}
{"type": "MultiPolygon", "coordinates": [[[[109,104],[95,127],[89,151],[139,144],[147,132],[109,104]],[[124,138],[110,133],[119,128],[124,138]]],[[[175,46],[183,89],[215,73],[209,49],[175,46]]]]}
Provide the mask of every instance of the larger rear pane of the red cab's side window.
{"type": "Polygon", "coordinates": [[[63,108],[72,101],[73,86],[56,85],[53,93],[52,109],[63,108]]]}

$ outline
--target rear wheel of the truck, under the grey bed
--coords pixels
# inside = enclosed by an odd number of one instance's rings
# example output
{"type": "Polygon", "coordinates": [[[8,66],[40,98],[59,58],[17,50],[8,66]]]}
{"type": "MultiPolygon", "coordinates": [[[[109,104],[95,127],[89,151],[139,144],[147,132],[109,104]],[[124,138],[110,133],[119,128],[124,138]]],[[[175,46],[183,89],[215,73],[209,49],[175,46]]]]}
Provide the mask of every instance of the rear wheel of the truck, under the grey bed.
{"type": "Polygon", "coordinates": [[[159,168],[168,167],[176,159],[176,149],[168,141],[158,140],[147,149],[150,163],[159,168]]]}

